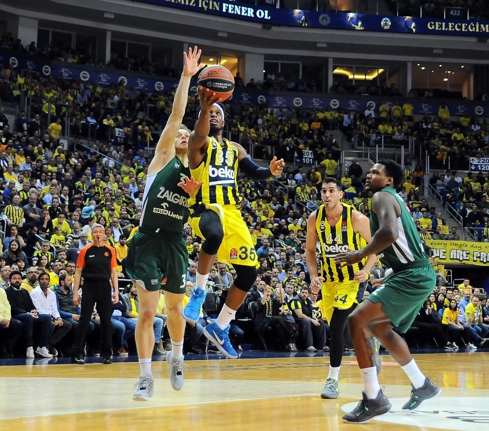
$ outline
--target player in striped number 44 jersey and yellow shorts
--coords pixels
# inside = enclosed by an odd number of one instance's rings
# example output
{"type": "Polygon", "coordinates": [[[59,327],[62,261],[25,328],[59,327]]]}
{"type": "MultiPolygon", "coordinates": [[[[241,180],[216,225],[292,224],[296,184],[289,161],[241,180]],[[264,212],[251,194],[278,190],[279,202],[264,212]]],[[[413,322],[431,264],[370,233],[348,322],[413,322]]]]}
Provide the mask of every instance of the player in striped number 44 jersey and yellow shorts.
{"type": "Polygon", "coordinates": [[[351,205],[340,202],[341,183],[327,177],[321,186],[323,204],[308,219],[306,261],[311,276],[311,291],[321,289],[326,318],[330,324],[330,370],[321,392],[321,398],[337,398],[338,374],[345,348],[344,330],[348,316],[358,305],[356,294],[359,283],[377,260],[375,255],[366,262],[341,266],[334,257],[343,250],[360,250],[372,240],[369,219],[351,205]],[[321,274],[316,265],[316,247],[319,243],[321,274]]]}

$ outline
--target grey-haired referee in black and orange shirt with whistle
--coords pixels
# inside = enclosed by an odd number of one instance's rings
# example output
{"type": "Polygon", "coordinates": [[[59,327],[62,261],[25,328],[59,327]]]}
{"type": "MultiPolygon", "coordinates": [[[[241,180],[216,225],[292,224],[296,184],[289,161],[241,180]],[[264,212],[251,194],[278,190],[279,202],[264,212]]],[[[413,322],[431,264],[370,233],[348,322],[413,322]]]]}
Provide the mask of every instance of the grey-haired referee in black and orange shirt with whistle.
{"type": "Polygon", "coordinates": [[[91,227],[93,242],[80,250],[76,262],[75,284],[73,289],[73,303],[80,304],[78,289],[83,277],[83,302],[80,320],[73,340],[72,364],[85,364],[83,347],[85,335],[89,327],[93,307],[97,303],[97,312],[102,325],[101,352],[104,364],[111,364],[112,345],[112,301],[117,301],[119,285],[117,281],[117,260],[115,250],[104,243],[104,227],[95,223],[91,227]],[[114,293],[111,292],[111,280],[114,293]]]}

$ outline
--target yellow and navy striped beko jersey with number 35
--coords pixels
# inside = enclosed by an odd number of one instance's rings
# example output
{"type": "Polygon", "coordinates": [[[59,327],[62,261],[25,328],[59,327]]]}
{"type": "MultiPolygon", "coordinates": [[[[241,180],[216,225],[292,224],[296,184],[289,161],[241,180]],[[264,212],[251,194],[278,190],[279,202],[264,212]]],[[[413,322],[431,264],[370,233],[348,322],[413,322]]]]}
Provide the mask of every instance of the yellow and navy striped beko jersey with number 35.
{"type": "Polygon", "coordinates": [[[196,169],[190,170],[196,181],[204,183],[190,197],[189,206],[205,203],[221,205],[238,205],[238,149],[227,139],[222,144],[214,137],[209,137],[207,153],[196,169]]]}

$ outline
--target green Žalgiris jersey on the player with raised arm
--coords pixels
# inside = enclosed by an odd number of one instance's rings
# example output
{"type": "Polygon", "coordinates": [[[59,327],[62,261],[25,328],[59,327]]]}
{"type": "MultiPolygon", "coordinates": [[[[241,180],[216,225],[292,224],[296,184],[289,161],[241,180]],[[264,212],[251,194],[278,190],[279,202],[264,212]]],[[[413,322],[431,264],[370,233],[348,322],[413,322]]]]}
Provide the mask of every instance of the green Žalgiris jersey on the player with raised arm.
{"type": "Polygon", "coordinates": [[[189,195],[178,186],[185,175],[190,177],[190,169],[177,156],[158,173],[148,175],[139,226],[182,234],[190,216],[189,195]]]}

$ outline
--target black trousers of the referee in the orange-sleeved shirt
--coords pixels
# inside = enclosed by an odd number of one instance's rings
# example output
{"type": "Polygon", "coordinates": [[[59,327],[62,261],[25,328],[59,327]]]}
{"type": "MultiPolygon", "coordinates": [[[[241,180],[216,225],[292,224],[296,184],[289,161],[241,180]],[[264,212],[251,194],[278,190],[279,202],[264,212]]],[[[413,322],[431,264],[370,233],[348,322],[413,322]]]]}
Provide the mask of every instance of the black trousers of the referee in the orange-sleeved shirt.
{"type": "Polygon", "coordinates": [[[82,289],[82,311],[73,339],[73,356],[84,352],[85,336],[90,324],[93,307],[97,304],[97,313],[101,324],[100,349],[103,357],[112,353],[112,289],[110,280],[85,280],[82,289]]]}

